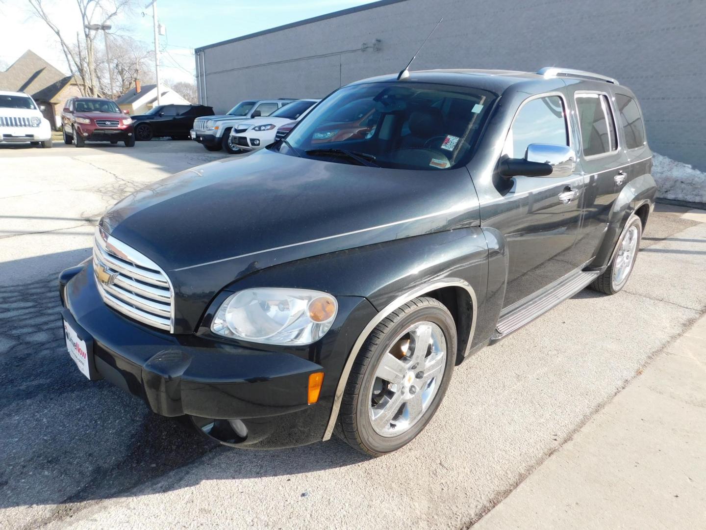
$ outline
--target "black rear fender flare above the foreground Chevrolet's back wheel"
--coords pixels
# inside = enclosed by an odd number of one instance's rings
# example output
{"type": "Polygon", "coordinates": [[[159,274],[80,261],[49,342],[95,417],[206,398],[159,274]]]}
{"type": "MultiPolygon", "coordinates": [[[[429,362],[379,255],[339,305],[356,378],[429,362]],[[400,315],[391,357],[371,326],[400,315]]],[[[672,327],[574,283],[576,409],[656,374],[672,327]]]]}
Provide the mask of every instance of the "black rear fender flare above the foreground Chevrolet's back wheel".
{"type": "Polygon", "coordinates": [[[610,264],[616,243],[628,222],[628,218],[645,204],[654,206],[654,196],[657,194],[657,184],[650,173],[645,173],[630,180],[623,187],[613,203],[609,214],[608,225],[596,257],[590,265],[590,270],[604,269],[610,264]]]}

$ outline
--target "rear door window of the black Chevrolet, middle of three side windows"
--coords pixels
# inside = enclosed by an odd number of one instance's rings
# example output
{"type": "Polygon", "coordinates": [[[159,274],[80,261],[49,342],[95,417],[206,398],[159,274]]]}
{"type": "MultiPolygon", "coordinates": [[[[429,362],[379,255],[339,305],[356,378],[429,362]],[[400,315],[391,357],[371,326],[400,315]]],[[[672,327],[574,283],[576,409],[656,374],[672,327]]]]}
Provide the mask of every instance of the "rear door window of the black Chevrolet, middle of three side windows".
{"type": "Polygon", "coordinates": [[[604,94],[578,94],[576,107],[583,155],[595,156],[616,151],[618,138],[608,98],[604,94]]]}

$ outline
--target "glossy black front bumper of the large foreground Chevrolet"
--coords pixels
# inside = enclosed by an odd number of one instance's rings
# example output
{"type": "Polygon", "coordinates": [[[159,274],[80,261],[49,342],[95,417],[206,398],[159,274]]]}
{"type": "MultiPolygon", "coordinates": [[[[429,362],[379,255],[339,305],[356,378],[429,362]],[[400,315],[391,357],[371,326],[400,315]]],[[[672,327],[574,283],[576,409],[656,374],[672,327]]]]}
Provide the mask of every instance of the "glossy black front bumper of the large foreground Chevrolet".
{"type": "Polygon", "coordinates": [[[292,447],[322,439],[345,358],[322,363],[325,367],[292,353],[143,326],[104,305],[91,263],[62,272],[59,289],[62,316],[92,342],[97,378],[140,397],[155,413],[187,414],[201,424],[208,423],[204,418],[241,420],[248,431],[238,443],[242,447],[292,447]],[[324,372],[324,387],[318,403],[309,405],[313,372],[324,372]]]}

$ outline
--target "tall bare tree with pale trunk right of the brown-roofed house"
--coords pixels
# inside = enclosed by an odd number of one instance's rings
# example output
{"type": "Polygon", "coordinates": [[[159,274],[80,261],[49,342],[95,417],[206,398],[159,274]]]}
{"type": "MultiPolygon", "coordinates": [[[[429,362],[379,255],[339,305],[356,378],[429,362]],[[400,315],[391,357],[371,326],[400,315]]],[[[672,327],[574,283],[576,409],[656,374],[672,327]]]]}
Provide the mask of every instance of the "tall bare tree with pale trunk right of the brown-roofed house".
{"type": "MultiPolygon", "coordinates": [[[[95,37],[97,33],[86,26],[91,24],[102,25],[109,22],[118,13],[130,8],[134,0],[76,0],[81,27],[83,28],[85,54],[82,53],[82,43],[78,40],[78,35],[76,45],[73,45],[71,40],[68,40],[69,37],[61,33],[61,28],[52,21],[52,16],[47,12],[45,8],[47,3],[44,0],[27,0],[27,3],[30,6],[31,13],[43,20],[59,39],[61,51],[64,52],[66,64],[68,64],[71,75],[80,78],[83,84],[83,94],[97,95],[99,92],[95,64],[95,37]]],[[[62,2],[61,8],[65,7],[66,2],[62,2]]]]}

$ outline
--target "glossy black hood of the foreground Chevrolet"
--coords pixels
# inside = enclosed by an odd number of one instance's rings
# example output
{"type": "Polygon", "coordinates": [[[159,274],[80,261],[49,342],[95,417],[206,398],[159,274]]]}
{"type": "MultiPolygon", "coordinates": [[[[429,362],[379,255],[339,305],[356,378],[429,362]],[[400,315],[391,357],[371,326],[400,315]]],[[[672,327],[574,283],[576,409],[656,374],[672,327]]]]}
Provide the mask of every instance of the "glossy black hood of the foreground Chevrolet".
{"type": "Polygon", "coordinates": [[[253,271],[477,225],[477,204],[465,167],[392,170],[262,150],[155,182],[100,223],[167,272],[177,317],[193,325],[218,291],[253,271]]]}

